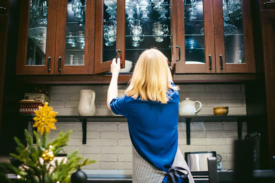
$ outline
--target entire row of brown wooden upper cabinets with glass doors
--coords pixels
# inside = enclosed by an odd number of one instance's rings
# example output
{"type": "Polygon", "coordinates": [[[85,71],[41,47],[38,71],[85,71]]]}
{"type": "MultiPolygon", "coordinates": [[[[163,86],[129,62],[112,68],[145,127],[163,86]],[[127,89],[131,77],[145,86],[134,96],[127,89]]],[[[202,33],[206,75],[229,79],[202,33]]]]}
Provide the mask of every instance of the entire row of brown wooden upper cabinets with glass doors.
{"type": "Polygon", "coordinates": [[[253,73],[250,1],[21,1],[17,74],[131,75],[157,47],[176,74],[253,73]]]}

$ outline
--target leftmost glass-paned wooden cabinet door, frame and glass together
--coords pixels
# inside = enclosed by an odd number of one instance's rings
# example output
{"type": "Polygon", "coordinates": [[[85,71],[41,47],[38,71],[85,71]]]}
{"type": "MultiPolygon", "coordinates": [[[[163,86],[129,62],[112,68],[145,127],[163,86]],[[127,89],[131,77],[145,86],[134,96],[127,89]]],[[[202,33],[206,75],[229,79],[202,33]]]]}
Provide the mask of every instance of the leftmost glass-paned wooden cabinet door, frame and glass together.
{"type": "Polygon", "coordinates": [[[17,74],[53,74],[55,7],[53,0],[21,2],[17,74]]]}

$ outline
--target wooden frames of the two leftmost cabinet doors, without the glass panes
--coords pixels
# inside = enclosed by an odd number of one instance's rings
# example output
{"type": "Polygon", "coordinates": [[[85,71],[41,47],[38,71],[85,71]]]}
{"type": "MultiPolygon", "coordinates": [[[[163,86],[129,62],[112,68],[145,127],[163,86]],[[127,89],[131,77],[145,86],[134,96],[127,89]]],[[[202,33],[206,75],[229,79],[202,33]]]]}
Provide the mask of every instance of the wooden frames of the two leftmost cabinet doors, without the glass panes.
{"type": "Polygon", "coordinates": [[[30,0],[20,1],[18,75],[94,74],[94,23],[96,1],[87,1],[85,17],[85,65],[65,66],[67,0],[49,0],[45,65],[26,65],[30,0]],[[58,58],[61,63],[58,65],[58,58]],[[47,65],[50,58],[50,65],[47,65]]]}

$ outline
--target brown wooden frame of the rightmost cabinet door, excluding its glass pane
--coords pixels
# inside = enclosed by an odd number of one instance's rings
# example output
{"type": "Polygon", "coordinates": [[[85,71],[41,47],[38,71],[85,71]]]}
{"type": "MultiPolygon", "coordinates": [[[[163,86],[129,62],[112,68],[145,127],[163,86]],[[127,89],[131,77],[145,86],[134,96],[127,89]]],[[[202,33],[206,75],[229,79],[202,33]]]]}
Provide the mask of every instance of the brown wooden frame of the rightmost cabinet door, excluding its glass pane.
{"type": "Polygon", "coordinates": [[[245,45],[245,63],[225,63],[225,45],[223,34],[223,3],[220,0],[213,0],[214,5],[214,41],[216,49],[216,72],[217,73],[254,73],[254,37],[250,1],[242,1],[243,17],[243,39],[245,45]],[[221,69],[221,57],[223,58],[223,69],[221,69]]]}

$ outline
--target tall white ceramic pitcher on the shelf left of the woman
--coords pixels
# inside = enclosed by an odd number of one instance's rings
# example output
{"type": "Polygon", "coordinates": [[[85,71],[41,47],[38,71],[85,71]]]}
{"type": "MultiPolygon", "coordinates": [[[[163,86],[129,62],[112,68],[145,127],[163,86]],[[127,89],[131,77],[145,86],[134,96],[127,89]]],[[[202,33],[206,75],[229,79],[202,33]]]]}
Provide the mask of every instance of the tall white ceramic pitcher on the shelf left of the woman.
{"type": "Polygon", "coordinates": [[[91,89],[81,89],[78,104],[78,113],[80,116],[94,116],[96,113],[96,92],[91,89]]]}

